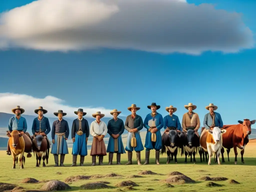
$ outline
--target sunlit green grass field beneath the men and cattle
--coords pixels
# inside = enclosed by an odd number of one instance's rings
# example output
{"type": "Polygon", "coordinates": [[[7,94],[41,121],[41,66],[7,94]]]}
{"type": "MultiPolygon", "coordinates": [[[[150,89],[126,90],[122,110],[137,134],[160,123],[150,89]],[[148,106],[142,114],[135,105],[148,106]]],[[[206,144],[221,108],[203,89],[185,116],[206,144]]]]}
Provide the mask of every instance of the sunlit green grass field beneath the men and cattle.
{"type": "MultiPolygon", "coordinates": [[[[145,191],[145,190],[155,190],[155,191],[255,191],[255,172],[256,172],[256,155],[255,155],[255,140],[251,140],[249,144],[246,146],[246,150],[244,153],[244,161],[245,164],[241,163],[241,155],[239,151],[238,155],[238,164],[234,165],[234,155],[233,150],[230,152],[230,162],[228,162],[227,155],[225,152],[225,160],[226,163],[218,165],[213,163],[212,165],[208,165],[203,162],[200,163],[199,155],[196,158],[197,164],[193,164],[188,162],[188,164],[184,164],[184,157],[178,158],[178,164],[174,164],[172,161],[170,164],[166,164],[166,155],[160,155],[160,164],[155,165],[155,151],[151,151],[150,155],[150,165],[136,165],[136,154],[133,153],[133,165],[124,165],[127,162],[127,154],[121,155],[121,163],[123,165],[107,165],[108,156],[104,157],[103,163],[104,166],[91,166],[91,156],[88,155],[85,158],[84,166],[70,167],[72,164],[72,155],[71,148],[69,149],[70,154],[66,155],[64,164],[66,167],[53,167],[54,158],[53,155],[50,155],[49,164],[47,167],[35,167],[36,158],[33,156],[31,158],[26,158],[25,168],[20,169],[19,166],[16,165],[16,169],[12,169],[12,157],[6,155],[5,151],[0,151],[0,163],[1,163],[1,174],[0,174],[0,182],[2,183],[12,183],[18,186],[25,187],[27,189],[40,189],[45,182],[38,182],[32,184],[23,184],[21,183],[22,179],[25,178],[35,178],[39,181],[42,180],[60,180],[64,182],[64,180],[69,176],[77,176],[77,175],[107,175],[111,172],[118,174],[120,176],[116,177],[102,177],[102,178],[90,178],[86,180],[78,180],[76,182],[68,183],[70,187],[72,187],[69,191],[83,191],[80,188],[82,184],[91,183],[95,181],[105,181],[109,182],[109,186],[111,188],[106,189],[98,189],[98,191],[129,191],[136,190],[137,191],[145,191]],[[142,175],[142,177],[134,177],[129,178],[132,175],[138,175],[140,171],[150,170],[152,172],[157,173],[156,175],[142,175]],[[190,177],[195,180],[194,184],[179,184],[179,183],[171,183],[174,187],[171,187],[164,183],[163,179],[168,178],[168,174],[170,172],[178,171],[183,173],[184,175],[190,177]],[[214,183],[220,184],[220,187],[207,187],[206,184],[210,181],[202,181],[201,177],[209,176],[209,177],[226,177],[228,180],[225,181],[213,181],[214,183]],[[240,184],[230,184],[229,181],[234,179],[240,184]],[[127,187],[116,187],[115,185],[122,182],[130,180],[137,184],[133,188],[127,187]]],[[[90,154],[90,151],[88,151],[90,154]]],[[[142,152],[142,163],[145,161],[145,151],[142,152]]],[[[113,163],[116,163],[116,156],[114,155],[113,163]]],[[[98,159],[97,159],[98,163],[98,159]]],[[[78,164],[79,164],[79,156],[78,156],[78,164]]],[[[95,191],[95,190],[87,190],[87,191],[95,191]]]]}

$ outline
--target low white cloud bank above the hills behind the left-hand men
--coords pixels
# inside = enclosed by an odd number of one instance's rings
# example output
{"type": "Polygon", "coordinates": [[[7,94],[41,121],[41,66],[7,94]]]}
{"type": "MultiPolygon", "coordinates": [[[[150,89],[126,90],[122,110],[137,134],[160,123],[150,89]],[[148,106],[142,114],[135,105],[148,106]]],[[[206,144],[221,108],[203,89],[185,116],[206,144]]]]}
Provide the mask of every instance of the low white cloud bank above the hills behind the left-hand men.
{"type": "MultiPolygon", "coordinates": [[[[0,112],[12,113],[17,105],[25,110],[25,115],[36,115],[34,110],[38,109],[38,106],[42,106],[48,111],[46,114],[47,117],[56,117],[53,113],[58,112],[58,110],[63,110],[67,113],[66,117],[77,117],[74,114],[74,111],[77,111],[79,108],[83,109],[84,112],[87,112],[86,117],[93,118],[92,114],[96,111],[100,111],[105,114],[105,117],[113,117],[110,114],[110,111],[113,109],[105,109],[103,107],[88,107],[88,106],[68,106],[64,104],[65,101],[58,99],[52,96],[46,96],[45,98],[35,98],[30,95],[25,94],[15,94],[15,93],[0,93],[0,112]]],[[[123,116],[123,114],[120,114],[123,116]]]]}

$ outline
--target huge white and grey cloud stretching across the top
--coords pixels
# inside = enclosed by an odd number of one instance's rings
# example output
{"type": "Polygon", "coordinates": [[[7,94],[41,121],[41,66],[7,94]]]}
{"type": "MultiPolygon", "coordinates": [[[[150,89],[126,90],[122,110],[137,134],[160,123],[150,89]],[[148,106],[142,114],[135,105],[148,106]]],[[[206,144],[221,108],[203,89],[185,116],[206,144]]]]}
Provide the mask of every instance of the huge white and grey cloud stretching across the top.
{"type": "Polygon", "coordinates": [[[241,16],[184,0],[38,0],[1,15],[0,46],[230,53],[254,47],[241,16]]]}

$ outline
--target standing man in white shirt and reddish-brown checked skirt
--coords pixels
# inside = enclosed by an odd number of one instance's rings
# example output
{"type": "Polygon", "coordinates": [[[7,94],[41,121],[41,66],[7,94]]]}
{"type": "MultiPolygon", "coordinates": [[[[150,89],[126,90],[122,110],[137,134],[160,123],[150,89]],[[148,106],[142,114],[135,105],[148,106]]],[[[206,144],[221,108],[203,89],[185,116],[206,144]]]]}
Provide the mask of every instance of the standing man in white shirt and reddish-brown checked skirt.
{"type": "Polygon", "coordinates": [[[92,140],[92,148],[91,148],[91,156],[92,156],[92,166],[96,165],[96,156],[99,157],[99,165],[103,165],[103,156],[107,155],[106,146],[103,141],[104,136],[107,134],[107,125],[104,121],[100,119],[105,115],[101,114],[100,111],[92,114],[95,121],[91,123],[90,126],[90,134],[93,136],[92,140]]]}

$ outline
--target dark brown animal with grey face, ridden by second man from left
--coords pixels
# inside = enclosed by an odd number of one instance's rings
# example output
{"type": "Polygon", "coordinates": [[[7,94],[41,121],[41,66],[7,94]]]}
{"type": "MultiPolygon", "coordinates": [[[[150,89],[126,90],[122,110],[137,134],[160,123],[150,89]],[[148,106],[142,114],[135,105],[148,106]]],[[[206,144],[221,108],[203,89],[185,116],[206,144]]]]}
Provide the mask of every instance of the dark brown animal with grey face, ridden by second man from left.
{"type": "Polygon", "coordinates": [[[45,133],[39,133],[33,138],[32,142],[32,149],[34,152],[34,155],[36,153],[36,167],[39,167],[41,164],[41,159],[43,159],[43,167],[45,167],[45,159],[48,164],[48,158],[49,158],[49,148],[47,144],[47,138],[45,133]],[[39,160],[39,163],[38,163],[39,160]]]}

